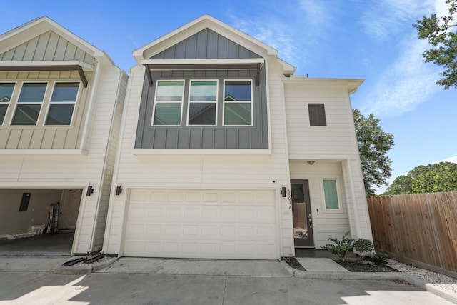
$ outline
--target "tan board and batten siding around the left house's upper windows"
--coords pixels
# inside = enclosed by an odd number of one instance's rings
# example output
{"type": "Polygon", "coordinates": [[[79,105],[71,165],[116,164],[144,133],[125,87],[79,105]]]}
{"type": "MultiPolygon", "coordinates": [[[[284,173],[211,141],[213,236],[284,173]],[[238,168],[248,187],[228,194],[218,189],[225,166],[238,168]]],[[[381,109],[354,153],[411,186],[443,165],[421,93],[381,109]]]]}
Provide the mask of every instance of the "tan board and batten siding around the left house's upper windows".
{"type": "MultiPolygon", "coordinates": [[[[89,86],[79,86],[71,126],[9,126],[14,115],[14,105],[10,105],[0,128],[0,149],[79,149],[89,104],[89,96],[94,82],[94,73],[86,72],[89,86]]],[[[20,91],[18,82],[80,81],[76,71],[24,71],[0,72],[0,82],[14,82],[14,95],[17,100],[20,91]]],[[[51,94],[51,88],[46,95],[51,94]]],[[[11,103],[11,102],[10,102],[11,103]]],[[[49,101],[41,105],[40,118],[44,118],[49,101]]],[[[44,121],[44,119],[39,119],[44,121]]]]}

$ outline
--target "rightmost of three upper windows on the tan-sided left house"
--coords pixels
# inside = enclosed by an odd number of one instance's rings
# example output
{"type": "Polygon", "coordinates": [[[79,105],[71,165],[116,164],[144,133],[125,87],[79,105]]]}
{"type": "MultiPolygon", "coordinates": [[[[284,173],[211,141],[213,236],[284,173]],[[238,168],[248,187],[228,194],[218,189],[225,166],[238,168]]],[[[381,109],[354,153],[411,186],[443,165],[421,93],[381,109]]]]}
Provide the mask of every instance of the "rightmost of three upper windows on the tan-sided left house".
{"type": "Polygon", "coordinates": [[[71,125],[79,83],[56,83],[45,125],[71,125]]]}

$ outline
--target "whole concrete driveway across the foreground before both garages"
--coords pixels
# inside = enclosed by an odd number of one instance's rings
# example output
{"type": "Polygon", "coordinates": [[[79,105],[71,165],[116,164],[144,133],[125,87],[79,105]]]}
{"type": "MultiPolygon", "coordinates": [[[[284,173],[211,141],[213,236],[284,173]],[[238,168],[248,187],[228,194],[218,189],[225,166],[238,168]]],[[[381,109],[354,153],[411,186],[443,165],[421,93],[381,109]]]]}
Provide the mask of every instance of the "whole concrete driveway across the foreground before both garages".
{"type": "Polygon", "coordinates": [[[64,275],[50,270],[62,258],[24,259],[0,257],[0,304],[451,304],[393,281],[301,279],[277,261],[192,261],[179,271],[171,260],[120,259],[64,275]]]}

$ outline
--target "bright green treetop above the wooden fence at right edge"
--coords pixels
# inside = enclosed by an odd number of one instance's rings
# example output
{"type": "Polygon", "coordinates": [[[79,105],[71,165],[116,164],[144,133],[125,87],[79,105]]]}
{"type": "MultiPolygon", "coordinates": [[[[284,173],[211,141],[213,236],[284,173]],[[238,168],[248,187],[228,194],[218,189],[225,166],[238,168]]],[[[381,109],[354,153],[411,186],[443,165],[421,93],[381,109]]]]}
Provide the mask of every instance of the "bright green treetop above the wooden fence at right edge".
{"type": "Polygon", "coordinates": [[[417,166],[410,171],[413,193],[457,191],[457,164],[440,162],[417,166]]]}

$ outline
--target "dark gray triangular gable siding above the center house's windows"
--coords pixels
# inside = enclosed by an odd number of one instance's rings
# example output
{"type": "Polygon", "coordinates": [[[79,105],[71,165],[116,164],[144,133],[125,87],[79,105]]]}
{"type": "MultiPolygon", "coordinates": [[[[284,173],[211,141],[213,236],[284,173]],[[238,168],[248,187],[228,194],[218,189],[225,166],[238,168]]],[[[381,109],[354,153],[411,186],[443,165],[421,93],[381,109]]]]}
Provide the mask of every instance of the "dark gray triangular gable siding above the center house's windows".
{"type": "Polygon", "coordinates": [[[260,57],[211,29],[204,29],[152,56],[151,59],[248,59],[260,57]]]}

